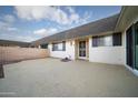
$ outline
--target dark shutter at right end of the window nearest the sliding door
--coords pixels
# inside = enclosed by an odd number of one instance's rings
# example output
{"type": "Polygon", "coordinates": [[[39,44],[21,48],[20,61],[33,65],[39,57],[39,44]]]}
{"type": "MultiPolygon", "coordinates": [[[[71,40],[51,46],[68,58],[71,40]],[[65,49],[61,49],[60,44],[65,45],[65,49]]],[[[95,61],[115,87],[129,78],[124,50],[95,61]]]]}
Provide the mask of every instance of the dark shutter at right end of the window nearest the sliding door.
{"type": "Polygon", "coordinates": [[[121,32],[112,34],[114,45],[121,45],[121,32]]]}

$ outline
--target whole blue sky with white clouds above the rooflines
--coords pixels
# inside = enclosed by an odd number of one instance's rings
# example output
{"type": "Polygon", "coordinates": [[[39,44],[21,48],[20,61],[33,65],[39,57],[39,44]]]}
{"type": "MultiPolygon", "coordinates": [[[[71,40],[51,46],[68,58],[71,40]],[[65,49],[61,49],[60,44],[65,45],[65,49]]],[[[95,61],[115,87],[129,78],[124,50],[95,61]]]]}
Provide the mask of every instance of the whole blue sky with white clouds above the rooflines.
{"type": "Polygon", "coordinates": [[[120,12],[118,6],[0,6],[0,39],[30,42],[120,12]]]}

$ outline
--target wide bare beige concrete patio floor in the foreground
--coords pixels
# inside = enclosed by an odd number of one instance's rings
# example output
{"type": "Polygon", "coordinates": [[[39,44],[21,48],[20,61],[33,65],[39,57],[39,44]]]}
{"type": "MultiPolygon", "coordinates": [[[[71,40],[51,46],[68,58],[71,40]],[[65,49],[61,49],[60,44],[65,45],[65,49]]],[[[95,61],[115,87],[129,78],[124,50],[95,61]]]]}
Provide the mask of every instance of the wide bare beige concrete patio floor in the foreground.
{"type": "Polygon", "coordinates": [[[138,96],[138,78],[121,65],[48,58],[3,68],[0,96],[138,96]]]}

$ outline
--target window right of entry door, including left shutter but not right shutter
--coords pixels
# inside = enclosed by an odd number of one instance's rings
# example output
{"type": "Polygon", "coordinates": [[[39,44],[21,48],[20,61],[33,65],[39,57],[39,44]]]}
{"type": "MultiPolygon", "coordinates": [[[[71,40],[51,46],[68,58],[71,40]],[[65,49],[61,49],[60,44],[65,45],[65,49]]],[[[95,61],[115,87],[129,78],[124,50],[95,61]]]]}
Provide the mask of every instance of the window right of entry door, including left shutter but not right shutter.
{"type": "Polygon", "coordinates": [[[112,45],[112,35],[106,37],[93,37],[92,47],[111,47],[112,45]]]}

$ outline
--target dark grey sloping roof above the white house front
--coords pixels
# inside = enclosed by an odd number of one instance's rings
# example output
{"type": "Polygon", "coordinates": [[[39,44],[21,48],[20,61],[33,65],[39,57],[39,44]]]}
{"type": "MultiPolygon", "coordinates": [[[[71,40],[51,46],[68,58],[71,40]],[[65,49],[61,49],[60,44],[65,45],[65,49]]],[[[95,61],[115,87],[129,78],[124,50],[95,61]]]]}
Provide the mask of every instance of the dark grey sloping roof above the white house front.
{"type": "Polygon", "coordinates": [[[70,30],[66,30],[53,35],[42,38],[40,40],[33,41],[32,44],[41,44],[53,41],[61,41],[72,38],[86,37],[86,35],[96,35],[103,32],[114,32],[119,14],[115,14],[108,18],[103,18],[88,24],[83,24],[70,30]]]}

